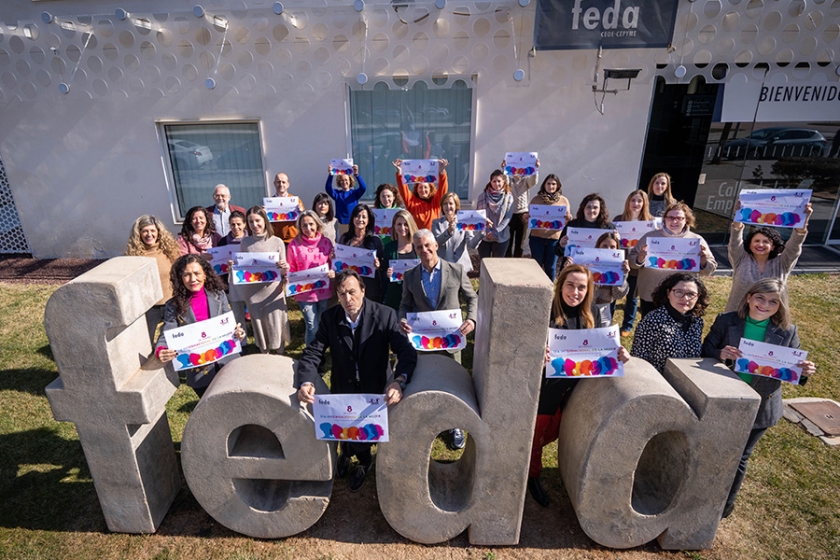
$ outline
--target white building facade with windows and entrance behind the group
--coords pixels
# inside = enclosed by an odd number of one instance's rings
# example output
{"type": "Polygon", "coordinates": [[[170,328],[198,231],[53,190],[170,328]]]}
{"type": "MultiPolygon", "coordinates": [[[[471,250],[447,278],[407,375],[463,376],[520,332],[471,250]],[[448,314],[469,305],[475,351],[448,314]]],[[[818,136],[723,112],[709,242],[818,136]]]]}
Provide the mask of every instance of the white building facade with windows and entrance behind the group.
{"type": "Polygon", "coordinates": [[[724,239],[744,184],[806,181],[809,241],[840,241],[840,2],[660,3],[674,15],[659,46],[548,50],[535,34],[558,9],[601,36],[628,32],[633,9],[656,4],[4,0],[0,253],[122,254],[137,216],[177,232],[216,184],[247,207],[281,171],[310,207],[336,158],[354,158],[371,196],[394,181],[392,160],[446,158],[469,205],[520,151],[539,153],[573,205],[600,192],[613,215],[667,171],[710,239],[724,239]],[[620,69],[639,72],[605,82],[620,69]],[[727,151],[770,126],[823,140],[727,151]],[[790,156],[798,175],[776,165],[790,156]]]}

